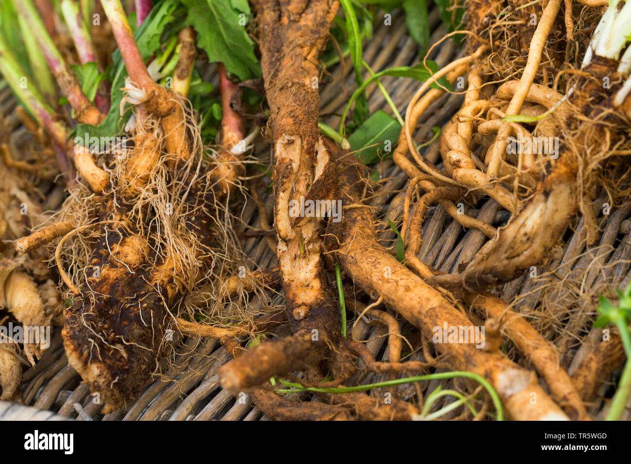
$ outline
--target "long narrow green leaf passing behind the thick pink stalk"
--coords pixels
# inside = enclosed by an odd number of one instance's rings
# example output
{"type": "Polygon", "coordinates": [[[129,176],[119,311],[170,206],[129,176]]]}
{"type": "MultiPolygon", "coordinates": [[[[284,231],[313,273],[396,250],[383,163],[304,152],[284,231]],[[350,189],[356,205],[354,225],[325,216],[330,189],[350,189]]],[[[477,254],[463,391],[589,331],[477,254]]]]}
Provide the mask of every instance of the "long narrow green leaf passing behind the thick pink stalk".
{"type": "MultiPolygon", "coordinates": [[[[161,36],[167,25],[171,23],[177,16],[177,8],[180,6],[179,0],[163,0],[157,4],[151,13],[144,19],[141,26],[136,30],[134,37],[136,44],[143,59],[153,56],[156,50],[162,45],[161,36]]],[[[182,10],[183,11],[183,10],[182,10]]],[[[177,30],[172,31],[177,33],[177,30]]],[[[164,41],[166,41],[165,39],[164,41]]],[[[122,61],[121,52],[115,51],[112,56],[113,66],[110,74],[112,81],[112,93],[110,96],[110,110],[105,119],[98,126],[90,126],[90,124],[79,124],[77,133],[90,133],[95,137],[112,137],[122,133],[125,124],[131,112],[127,112],[125,116],[120,117],[120,104],[123,97],[121,88],[125,85],[127,77],[127,69],[122,61]]]]}

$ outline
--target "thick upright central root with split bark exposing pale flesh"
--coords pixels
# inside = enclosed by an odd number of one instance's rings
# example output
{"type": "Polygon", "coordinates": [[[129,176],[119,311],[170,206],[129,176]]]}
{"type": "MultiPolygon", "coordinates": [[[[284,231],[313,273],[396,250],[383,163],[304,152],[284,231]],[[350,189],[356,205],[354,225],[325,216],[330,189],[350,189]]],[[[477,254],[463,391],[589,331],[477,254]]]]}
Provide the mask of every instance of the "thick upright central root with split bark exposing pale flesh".
{"type": "Polygon", "coordinates": [[[299,217],[290,210],[293,201],[331,200],[336,195],[335,165],[317,127],[319,94],[312,84],[319,77],[317,57],[339,3],[259,0],[254,4],[274,144],[276,256],[293,335],[262,343],[221,367],[221,385],[233,395],[327,357],[336,381],[344,381],[355,369],[350,354],[336,351],[339,311],[321,254],[325,211],[299,217]]]}

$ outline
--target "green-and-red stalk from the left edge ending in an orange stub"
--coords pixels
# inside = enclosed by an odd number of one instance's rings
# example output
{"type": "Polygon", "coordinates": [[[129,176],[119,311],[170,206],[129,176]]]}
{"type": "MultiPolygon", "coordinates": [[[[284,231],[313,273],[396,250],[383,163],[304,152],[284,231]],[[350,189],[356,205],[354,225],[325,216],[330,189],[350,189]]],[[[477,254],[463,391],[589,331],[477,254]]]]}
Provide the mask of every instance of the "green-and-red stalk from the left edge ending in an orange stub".
{"type": "MultiPolygon", "coordinates": [[[[74,146],[72,141],[68,140],[68,129],[57,119],[56,113],[45,102],[35,85],[21,85],[26,74],[15,56],[9,51],[3,37],[0,37],[0,73],[11,86],[13,93],[20,97],[28,112],[49,133],[54,143],[66,149],[66,152],[73,158],[76,169],[88,181],[92,190],[95,193],[103,191],[109,184],[109,175],[97,167],[87,148],[80,145],[74,146]]],[[[62,165],[60,165],[60,169],[63,169],[62,165]]]]}

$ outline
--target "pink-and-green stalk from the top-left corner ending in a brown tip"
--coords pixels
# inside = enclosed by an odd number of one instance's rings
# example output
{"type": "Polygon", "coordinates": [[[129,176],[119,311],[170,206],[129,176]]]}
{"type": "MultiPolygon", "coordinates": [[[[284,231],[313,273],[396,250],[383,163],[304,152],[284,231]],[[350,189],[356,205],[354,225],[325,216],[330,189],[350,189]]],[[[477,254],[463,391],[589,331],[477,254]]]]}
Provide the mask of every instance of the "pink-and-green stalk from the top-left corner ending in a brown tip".
{"type": "Polygon", "coordinates": [[[68,102],[76,112],[77,121],[93,126],[103,121],[105,115],[86,98],[78,79],[70,71],[68,64],[66,64],[46,31],[42,18],[39,17],[32,0],[14,0],[14,4],[20,15],[25,19],[40,49],[42,49],[62,93],[66,95],[68,102]]]}

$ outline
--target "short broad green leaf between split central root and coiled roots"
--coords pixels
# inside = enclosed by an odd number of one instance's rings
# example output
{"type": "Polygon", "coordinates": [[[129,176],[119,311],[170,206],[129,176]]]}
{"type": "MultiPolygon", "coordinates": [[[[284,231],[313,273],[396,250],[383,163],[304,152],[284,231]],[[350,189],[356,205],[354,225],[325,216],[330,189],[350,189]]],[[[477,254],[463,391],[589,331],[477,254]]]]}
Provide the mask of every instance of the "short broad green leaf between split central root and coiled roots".
{"type": "Polygon", "coordinates": [[[386,112],[379,110],[367,119],[360,128],[348,138],[355,157],[363,164],[372,164],[380,158],[392,156],[392,145],[401,132],[401,124],[386,112]],[[390,151],[385,152],[385,140],[391,142],[390,151]],[[381,155],[381,156],[380,156],[381,155]]]}

